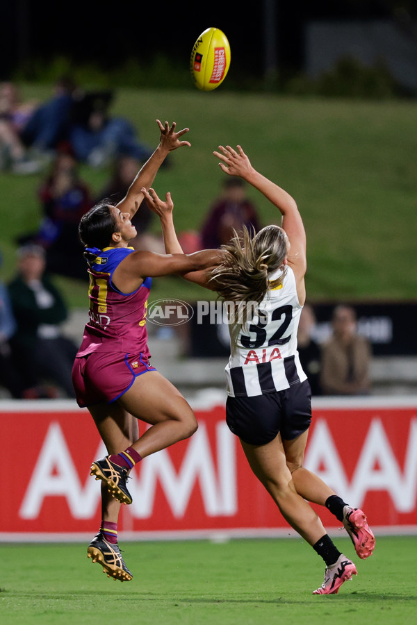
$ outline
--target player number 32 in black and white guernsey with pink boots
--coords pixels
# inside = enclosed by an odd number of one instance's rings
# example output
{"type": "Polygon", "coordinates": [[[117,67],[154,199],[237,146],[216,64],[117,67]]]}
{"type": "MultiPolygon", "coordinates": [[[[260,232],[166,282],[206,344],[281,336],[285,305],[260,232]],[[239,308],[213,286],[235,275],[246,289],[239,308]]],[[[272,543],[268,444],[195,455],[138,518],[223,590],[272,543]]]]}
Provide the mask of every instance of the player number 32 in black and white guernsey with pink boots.
{"type": "MultiPolygon", "coordinates": [[[[325,581],[313,594],[335,594],[352,575],[354,563],[332,542],[307,501],[326,506],[345,527],[359,558],[368,558],[375,537],[362,510],[351,508],[318,476],[303,467],[311,423],[311,391],[297,354],[297,326],[306,299],[306,234],[291,195],[252,167],[243,149],[219,147],[214,155],[229,176],[240,176],[281,214],[281,224],[259,233],[238,233],[217,267],[186,274],[236,305],[229,324],[231,356],[226,367],[227,424],[243,447],[252,471],[286,521],[325,561],[325,581]],[[256,314],[238,318],[245,306],[256,314]],[[237,312],[239,311],[239,313],[237,312]],[[307,500],[307,501],[306,501],[307,500]]],[[[170,194],[145,194],[161,218],[165,250],[180,253],[170,194]]]]}

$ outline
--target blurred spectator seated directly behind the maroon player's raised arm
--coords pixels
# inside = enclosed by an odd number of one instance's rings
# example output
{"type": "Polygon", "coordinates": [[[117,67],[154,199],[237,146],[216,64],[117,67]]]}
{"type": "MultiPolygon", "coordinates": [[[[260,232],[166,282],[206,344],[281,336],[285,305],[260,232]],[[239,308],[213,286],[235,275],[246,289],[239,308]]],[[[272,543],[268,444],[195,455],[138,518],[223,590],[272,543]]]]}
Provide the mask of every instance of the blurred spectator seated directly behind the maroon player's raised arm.
{"type": "MultiPolygon", "coordinates": [[[[126,194],[126,189],[130,187],[142,163],[140,160],[132,156],[118,156],[113,161],[113,176],[108,184],[101,190],[97,197],[97,202],[102,201],[104,197],[113,204],[117,204],[126,194]]],[[[154,219],[154,213],[147,207],[146,201],[138,208],[133,219],[133,226],[136,227],[138,235],[131,241],[131,246],[135,249],[154,251],[156,253],[165,253],[162,236],[156,236],[149,233],[149,227],[154,219]]],[[[85,268],[84,268],[85,271],[85,268]]]]}

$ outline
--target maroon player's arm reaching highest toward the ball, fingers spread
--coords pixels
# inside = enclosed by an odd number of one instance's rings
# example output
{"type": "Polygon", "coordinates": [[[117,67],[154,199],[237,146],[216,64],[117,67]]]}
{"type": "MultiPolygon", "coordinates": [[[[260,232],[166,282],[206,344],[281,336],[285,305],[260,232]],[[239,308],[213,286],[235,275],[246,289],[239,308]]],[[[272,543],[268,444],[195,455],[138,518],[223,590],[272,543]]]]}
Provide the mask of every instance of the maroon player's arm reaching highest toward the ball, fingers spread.
{"type": "Polygon", "coordinates": [[[156,123],[161,131],[159,145],[152,156],[149,157],[145,165],[143,165],[138,172],[138,175],[133,180],[133,183],[131,183],[126,193],[126,196],[117,204],[117,208],[120,208],[122,213],[130,213],[131,217],[133,217],[142,203],[144,197],[142,188],[149,189],[152,185],[156,173],[158,172],[159,167],[161,167],[167,154],[172,150],[182,147],[183,145],[188,147],[191,145],[190,142],[181,140],[181,137],[185,133],[188,133],[188,128],[183,128],[183,130],[176,132],[176,122],[173,122],[172,126],[170,126],[168,122],[165,122],[163,125],[159,119],[156,119],[156,123]]]}

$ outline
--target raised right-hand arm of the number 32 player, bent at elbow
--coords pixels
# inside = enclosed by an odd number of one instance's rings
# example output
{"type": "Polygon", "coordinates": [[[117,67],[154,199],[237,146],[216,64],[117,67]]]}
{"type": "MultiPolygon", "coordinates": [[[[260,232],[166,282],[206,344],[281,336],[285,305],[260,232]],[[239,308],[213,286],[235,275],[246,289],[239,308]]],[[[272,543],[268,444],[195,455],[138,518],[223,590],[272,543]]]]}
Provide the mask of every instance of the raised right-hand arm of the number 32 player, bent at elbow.
{"type": "Polygon", "coordinates": [[[259,190],[281,213],[281,227],[286,231],[291,243],[288,253],[288,265],[293,268],[297,282],[304,278],[306,272],[306,233],[297,204],[289,193],[277,184],[265,178],[252,167],[242,147],[237,151],[229,145],[219,146],[220,152],[214,156],[220,158],[220,168],[229,176],[240,176],[247,183],[259,190]]]}

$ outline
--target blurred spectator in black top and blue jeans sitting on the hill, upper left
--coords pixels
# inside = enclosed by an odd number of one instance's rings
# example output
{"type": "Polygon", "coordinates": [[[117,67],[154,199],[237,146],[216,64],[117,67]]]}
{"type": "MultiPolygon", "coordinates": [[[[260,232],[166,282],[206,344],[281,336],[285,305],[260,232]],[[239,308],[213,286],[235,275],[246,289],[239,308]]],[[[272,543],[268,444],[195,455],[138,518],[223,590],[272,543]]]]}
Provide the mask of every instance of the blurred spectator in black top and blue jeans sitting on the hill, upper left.
{"type": "Polygon", "coordinates": [[[108,165],[120,155],[145,161],[152,154],[127,119],[109,114],[112,99],[112,92],[87,92],[72,109],[68,140],[76,158],[92,167],[108,165]]]}

